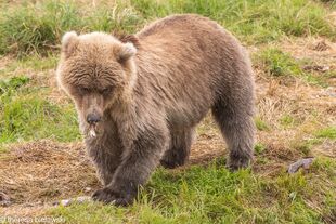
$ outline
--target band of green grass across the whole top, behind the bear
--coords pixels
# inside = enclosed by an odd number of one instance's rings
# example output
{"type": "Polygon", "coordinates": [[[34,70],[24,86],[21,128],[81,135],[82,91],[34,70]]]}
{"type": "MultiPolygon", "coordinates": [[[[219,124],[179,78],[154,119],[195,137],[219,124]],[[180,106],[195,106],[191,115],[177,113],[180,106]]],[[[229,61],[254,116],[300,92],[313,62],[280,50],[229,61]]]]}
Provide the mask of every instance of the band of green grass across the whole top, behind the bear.
{"type": "Polygon", "coordinates": [[[335,38],[329,10],[310,0],[129,0],[91,6],[76,1],[47,0],[0,5],[0,53],[17,56],[46,53],[65,31],[133,32],[146,22],[176,13],[197,13],[225,26],[248,43],[283,36],[335,38]]]}

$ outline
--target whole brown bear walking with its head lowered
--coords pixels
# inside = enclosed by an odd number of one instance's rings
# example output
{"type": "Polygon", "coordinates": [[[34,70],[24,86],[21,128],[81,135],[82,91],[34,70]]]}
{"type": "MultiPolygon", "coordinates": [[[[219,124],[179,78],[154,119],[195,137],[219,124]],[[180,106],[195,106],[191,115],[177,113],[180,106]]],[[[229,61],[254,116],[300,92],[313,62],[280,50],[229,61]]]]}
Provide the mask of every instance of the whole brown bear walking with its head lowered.
{"type": "Polygon", "coordinates": [[[159,163],[184,164],[209,109],[230,149],[228,166],[244,168],[253,158],[250,61],[206,17],[172,15],[121,40],[67,32],[56,76],[104,184],[95,200],[128,205],[159,163]]]}

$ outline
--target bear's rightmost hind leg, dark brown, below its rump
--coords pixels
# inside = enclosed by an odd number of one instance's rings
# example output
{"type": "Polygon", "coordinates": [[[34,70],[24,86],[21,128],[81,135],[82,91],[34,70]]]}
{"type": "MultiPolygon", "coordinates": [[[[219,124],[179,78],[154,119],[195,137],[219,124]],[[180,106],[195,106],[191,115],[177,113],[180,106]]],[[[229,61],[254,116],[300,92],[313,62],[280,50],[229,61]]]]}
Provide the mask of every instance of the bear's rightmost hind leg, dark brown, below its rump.
{"type": "Polygon", "coordinates": [[[220,98],[212,107],[212,115],[229,147],[228,167],[246,168],[253,159],[255,123],[253,94],[241,98],[220,98]]]}

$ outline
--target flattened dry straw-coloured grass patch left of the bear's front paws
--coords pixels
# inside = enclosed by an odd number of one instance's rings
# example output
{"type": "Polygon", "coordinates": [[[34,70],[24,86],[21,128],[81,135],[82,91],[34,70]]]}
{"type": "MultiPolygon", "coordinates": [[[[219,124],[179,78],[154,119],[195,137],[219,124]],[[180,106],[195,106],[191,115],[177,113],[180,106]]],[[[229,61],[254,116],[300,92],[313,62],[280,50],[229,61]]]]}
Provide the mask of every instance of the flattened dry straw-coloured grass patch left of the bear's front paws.
{"type": "Polygon", "coordinates": [[[0,190],[12,205],[42,206],[98,186],[94,169],[80,143],[17,144],[1,158],[0,190]]]}

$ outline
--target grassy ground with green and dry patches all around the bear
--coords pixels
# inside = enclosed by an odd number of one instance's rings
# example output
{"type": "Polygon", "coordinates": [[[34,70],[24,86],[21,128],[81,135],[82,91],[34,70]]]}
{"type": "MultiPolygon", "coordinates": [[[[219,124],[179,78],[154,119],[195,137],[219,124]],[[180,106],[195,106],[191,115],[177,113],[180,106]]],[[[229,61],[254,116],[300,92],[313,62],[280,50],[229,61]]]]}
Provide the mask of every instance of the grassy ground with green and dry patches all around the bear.
{"type": "Polygon", "coordinates": [[[336,222],[334,1],[82,0],[87,8],[81,12],[65,1],[27,2],[0,3],[8,9],[0,11],[0,218],[53,216],[66,223],[336,222]],[[197,128],[190,162],[175,170],[158,168],[134,205],[55,206],[100,187],[73,103],[54,80],[62,34],[132,32],[182,12],[218,21],[250,53],[258,128],[253,167],[235,173],[225,169],[227,146],[208,115],[197,128]],[[286,172],[306,157],[314,158],[308,170],[286,172]]]}

